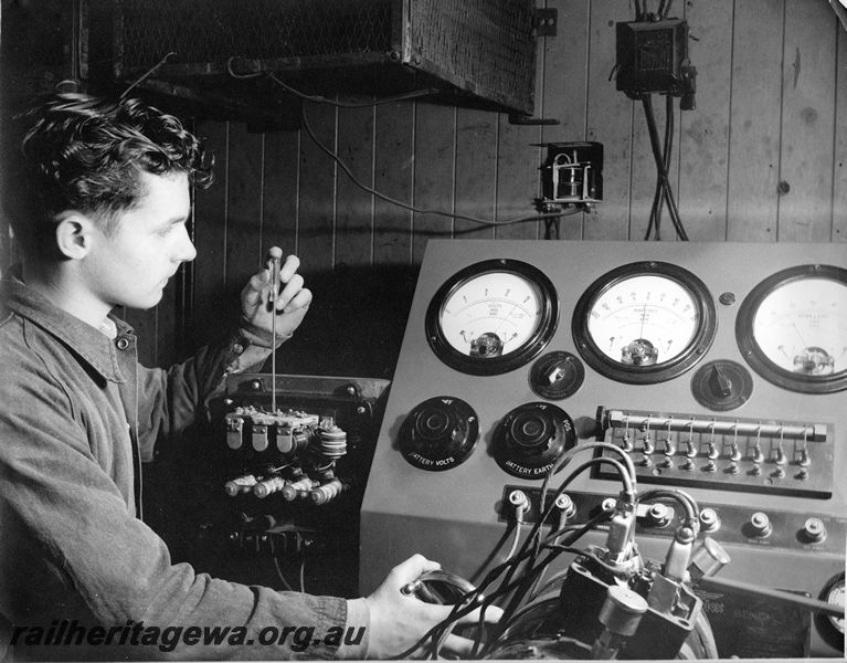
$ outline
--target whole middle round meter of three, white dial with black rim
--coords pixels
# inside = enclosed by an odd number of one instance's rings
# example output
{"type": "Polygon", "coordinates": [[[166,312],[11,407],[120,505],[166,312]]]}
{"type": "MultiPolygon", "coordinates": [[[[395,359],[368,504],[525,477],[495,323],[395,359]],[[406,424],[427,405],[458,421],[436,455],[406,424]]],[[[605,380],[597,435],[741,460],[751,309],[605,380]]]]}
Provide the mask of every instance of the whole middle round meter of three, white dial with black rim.
{"type": "Polygon", "coordinates": [[[610,272],[582,295],[573,334],[585,361],[621,382],[668,380],[714,338],[714,303],[690,272],[658,262],[610,272]]]}

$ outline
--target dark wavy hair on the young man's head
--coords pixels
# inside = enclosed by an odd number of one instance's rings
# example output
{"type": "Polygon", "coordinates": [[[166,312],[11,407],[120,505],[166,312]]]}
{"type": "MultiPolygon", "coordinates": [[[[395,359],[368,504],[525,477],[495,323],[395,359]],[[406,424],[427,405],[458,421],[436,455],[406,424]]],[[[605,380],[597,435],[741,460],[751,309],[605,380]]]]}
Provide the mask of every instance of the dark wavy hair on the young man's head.
{"type": "Polygon", "coordinates": [[[55,218],[66,210],[112,232],[120,212],[144,196],[142,171],[184,172],[200,188],[211,183],[198,138],[174,116],[138,99],[51,94],[11,128],[3,207],[28,253],[53,248],[55,218]]]}

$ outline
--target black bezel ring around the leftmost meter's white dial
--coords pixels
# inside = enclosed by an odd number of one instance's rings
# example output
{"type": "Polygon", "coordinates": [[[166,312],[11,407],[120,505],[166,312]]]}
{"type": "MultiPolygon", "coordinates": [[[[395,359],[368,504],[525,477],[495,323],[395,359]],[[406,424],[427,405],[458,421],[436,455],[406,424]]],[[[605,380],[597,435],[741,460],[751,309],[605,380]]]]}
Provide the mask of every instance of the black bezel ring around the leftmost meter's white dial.
{"type": "Polygon", "coordinates": [[[515,370],[534,359],[547,346],[559,324],[559,296],[555,286],[538,267],[518,260],[494,259],[474,263],[451,276],[433,296],[426,309],[426,340],[444,364],[473,376],[497,376],[515,370]],[[444,336],[441,316],[451,295],[472,278],[488,272],[518,274],[530,282],[541,296],[541,315],[532,336],[516,350],[497,357],[472,357],[454,348],[444,336]]]}

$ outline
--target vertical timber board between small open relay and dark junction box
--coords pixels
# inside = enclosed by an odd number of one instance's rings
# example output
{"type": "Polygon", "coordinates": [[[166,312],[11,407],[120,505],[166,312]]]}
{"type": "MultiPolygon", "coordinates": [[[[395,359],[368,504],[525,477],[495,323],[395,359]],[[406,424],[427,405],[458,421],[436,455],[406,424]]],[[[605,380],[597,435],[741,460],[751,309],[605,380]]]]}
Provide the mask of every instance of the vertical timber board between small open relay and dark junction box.
{"type": "Polygon", "coordinates": [[[603,144],[603,203],[585,227],[586,240],[629,239],[633,104],[608,80],[615,66],[615,23],[628,18],[628,3],[591,2],[587,133],[603,144]]]}

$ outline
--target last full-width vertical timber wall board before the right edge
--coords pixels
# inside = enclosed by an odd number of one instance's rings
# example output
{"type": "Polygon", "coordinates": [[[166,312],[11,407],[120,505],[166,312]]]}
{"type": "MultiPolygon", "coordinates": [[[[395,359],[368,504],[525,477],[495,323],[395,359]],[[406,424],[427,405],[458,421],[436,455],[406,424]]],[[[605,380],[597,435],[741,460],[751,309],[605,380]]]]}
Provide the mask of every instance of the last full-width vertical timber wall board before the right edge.
{"type": "Polygon", "coordinates": [[[835,53],[840,25],[827,2],[786,0],[779,240],[832,233],[835,53]]]}

